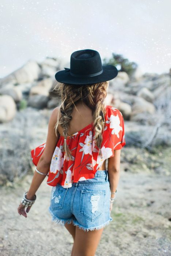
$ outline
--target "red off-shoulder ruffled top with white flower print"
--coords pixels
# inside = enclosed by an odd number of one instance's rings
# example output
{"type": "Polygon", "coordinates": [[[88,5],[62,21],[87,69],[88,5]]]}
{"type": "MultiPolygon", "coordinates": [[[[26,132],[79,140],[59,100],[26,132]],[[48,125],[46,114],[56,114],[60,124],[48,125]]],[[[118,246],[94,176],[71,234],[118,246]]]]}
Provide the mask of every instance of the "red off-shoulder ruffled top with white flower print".
{"type": "MultiPolygon", "coordinates": [[[[114,150],[125,146],[124,121],[122,113],[112,106],[106,106],[105,127],[103,130],[102,157],[95,145],[93,123],[67,137],[66,143],[72,152],[72,160],[66,159],[63,145],[64,136],[59,137],[53,153],[50,170],[47,173],[47,184],[72,187],[72,182],[78,182],[95,177],[96,171],[107,158],[114,156],[114,150]]],[[[31,150],[32,161],[37,166],[46,143],[31,150]]]]}

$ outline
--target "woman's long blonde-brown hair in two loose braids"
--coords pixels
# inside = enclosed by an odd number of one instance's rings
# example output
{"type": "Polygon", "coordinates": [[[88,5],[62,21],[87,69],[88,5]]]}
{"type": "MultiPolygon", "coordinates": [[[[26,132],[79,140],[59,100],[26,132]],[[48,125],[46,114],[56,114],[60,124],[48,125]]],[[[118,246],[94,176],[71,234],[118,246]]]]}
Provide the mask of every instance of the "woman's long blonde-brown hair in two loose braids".
{"type": "MultiPolygon", "coordinates": [[[[59,134],[58,125],[63,129],[64,139],[68,136],[68,127],[72,119],[73,108],[76,108],[77,101],[82,101],[91,110],[93,116],[93,126],[95,129],[95,144],[99,148],[99,155],[102,157],[101,144],[103,140],[103,129],[105,126],[104,115],[106,109],[104,106],[104,99],[106,98],[107,82],[100,82],[95,84],[73,85],[66,83],[57,83],[54,91],[60,99],[59,112],[57,122],[55,125],[56,136],[59,134]]],[[[64,151],[66,159],[72,159],[71,151],[64,140],[64,151]]]]}

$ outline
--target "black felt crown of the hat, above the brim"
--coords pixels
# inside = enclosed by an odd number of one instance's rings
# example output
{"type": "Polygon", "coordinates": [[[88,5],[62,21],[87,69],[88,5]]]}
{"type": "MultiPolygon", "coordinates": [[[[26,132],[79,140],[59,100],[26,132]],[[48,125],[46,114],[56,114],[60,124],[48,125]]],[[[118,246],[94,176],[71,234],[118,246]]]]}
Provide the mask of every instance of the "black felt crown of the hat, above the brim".
{"type": "Polygon", "coordinates": [[[71,54],[70,73],[73,76],[96,76],[103,72],[100,54],[96,50],[78,50],[71,54]]]}

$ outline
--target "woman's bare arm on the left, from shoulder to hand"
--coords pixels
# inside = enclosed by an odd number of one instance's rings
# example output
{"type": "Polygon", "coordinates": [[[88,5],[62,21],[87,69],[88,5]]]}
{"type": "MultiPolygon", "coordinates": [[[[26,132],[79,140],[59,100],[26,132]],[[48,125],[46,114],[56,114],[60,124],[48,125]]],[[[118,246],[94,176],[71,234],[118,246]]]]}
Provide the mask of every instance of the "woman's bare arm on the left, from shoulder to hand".
{"type": "MultiPolygon", "coordinates": [[[[52,161],[53,153],[56,148],[59,135],[56,136],[55,134],[55,124],[57,122],[57,116],[58,116],[58,110],[59,107],[56,107],[50,116],[49,119],[49,124],[48,124],[48,132],[47,132],[47,139],[46,139],[46,146],[45,149],[43,150],[43,153],[39,159],[39,162],[37,164],[37,170],[41,173],[48,173],[50,169],[50,163],[52,161]]],[[[45,179],[45,175],[41,175],[37,172],[34,172],[33,179],[31,181],[30,188],[28,190],[26,198],[28,200],[33,200],[34,195],[36,191],[38,190],[39,186],[45,179]]],[[[18,213],[23,215],[24,217],[27,217],[26,212],[30,210],[31,207],[27,207],[27,210],[25,212],[24,207],[22,203],[20,203],[18,207],[18,213]]]]}

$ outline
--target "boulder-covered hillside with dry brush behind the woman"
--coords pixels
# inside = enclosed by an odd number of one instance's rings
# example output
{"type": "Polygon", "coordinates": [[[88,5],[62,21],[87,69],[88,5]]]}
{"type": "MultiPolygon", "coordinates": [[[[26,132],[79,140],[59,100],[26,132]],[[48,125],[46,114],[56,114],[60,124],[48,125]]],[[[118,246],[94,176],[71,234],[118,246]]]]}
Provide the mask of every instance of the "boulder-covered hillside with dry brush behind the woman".
{"type": "MultiPolygon", "coordinates": [[[[53,58],[42,63],[28,61],[0,79],[0,185],[34,169],[30,150],[45,142],[50,113],[59,103],[53,91],[57,83],[54,74],[64,67],[53,58]]],[[[110,81],[106,101],[123,114],[126,140],[123,151],[132,147],[156,154],[159,147],[170,148],[170,73],[135,72],[130,79],[126,72],[118,72],[110,81]]],[[[129,155],[128,150],[126,162],[135,161],[129,155]]]]}

